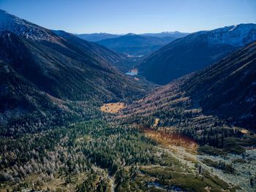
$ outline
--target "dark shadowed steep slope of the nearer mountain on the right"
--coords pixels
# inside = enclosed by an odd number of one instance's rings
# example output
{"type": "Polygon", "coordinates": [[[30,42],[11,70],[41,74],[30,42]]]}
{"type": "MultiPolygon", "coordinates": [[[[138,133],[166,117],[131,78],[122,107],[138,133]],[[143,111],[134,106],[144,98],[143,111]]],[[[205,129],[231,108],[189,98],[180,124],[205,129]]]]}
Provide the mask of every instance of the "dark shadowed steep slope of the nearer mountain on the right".
{"type": "Polygon", "coordinates": [[[193,74],[181,90],[199,101],[204,113],[256,128],[256,42],[193,74]]]}

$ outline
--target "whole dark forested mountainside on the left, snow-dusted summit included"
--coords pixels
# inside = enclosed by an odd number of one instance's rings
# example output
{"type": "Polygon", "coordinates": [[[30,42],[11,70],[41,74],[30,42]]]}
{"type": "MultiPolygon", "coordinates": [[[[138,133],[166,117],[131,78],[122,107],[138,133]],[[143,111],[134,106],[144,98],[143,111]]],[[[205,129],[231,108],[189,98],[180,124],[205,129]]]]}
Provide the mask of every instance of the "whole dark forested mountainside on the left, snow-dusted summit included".
{"type": "Polygon", "coordinates": [[[31,118],[40,119],[42,127],[88,118],[92,104],[132,99],[146,91],[113,67],[121,59],[113,51],[4,11],[1,15],[1,126],[18,133],[29,131],[31,118]]]}

